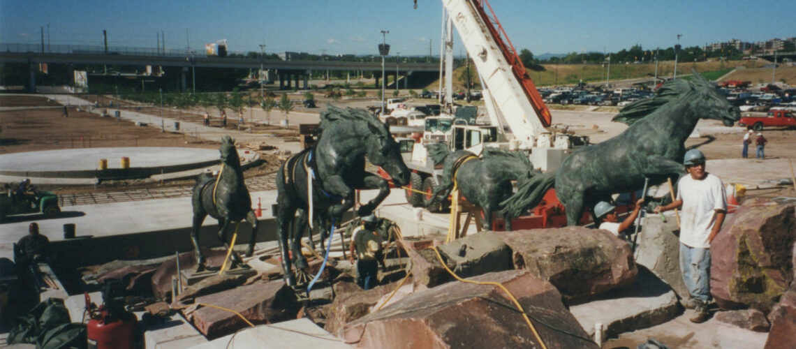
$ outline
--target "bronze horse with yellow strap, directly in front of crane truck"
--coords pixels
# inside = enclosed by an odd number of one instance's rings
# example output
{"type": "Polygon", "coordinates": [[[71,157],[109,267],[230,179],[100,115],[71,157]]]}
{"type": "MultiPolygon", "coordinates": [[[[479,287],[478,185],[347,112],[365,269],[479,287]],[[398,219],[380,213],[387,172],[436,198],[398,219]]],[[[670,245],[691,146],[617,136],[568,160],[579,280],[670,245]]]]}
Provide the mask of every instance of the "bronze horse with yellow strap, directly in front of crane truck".
{"type": "MultiPolygon", "coordinates": [[[[501,201],[511,196],[512,180],[527,180],[541,174],[533,169],[525,153],[486,148],[482,158],[466,150],[450,151],[443,143],[426,145],[428,155],[435,165],[443,163],[443,176],[434,195],[425,200],[428,207],[450,195],[454,185],[466,197],[484,211],[483,227],[492,229],[493,213],[499,211],[501,201]]],[[[505,217],[506,230],[511,230],[511,219],[505,217]]]]}

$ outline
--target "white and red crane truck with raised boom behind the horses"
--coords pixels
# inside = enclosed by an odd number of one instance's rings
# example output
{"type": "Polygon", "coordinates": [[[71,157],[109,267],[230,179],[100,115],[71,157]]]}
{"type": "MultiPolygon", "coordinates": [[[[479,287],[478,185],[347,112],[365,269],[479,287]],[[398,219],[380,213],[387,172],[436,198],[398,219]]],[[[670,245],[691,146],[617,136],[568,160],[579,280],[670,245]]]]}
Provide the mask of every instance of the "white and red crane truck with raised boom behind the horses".
{"type": "MultiPolygon", "coordinates": [[[[550,128],[552,115],[544,104],[533,81],[525,71],[517,50],[509,41],[500,21],[486,0],[442,0],[443,2],[443,52],[440,60],[440,103],[451,110],[453,76],[453,27],[455,26],[469,56],[474,61],[481,79],[489,124],[467,122],[453,115],[428,117],[421,137],[404,138],[402,146],[412,152],[404,160],[412,169],[411,184],[406,198],[412,206],[419,206],[431,196],[439,184],[442,169],[435,167],[423,146],[427,142],[444,142],[451,149],[465,149],[481,154],[485,146],[522,149],[529,152],[533,165],[542,171],[556,169],[568,153],[587,145],[587,136],[557,132],[550,128]],[[443,86],[444,84],[444,86],[443,86]],[[425,192],[425,194],[418,191],[425,192]]],[[[445,204],[427,207],[441,211],[445,204]]],[[[513,223],[513,227],[549,227],[565,224],[563,206],[554,192],[548,192],[544,204],[537,207],[526,223],[513,223]],[[557,219],[554,217],[560,215],[557,219]]],[[[498,223],[502,223],[500,220],[498,223]]],[[[500,227],[496,227],[499,230],[500,227]]]]}

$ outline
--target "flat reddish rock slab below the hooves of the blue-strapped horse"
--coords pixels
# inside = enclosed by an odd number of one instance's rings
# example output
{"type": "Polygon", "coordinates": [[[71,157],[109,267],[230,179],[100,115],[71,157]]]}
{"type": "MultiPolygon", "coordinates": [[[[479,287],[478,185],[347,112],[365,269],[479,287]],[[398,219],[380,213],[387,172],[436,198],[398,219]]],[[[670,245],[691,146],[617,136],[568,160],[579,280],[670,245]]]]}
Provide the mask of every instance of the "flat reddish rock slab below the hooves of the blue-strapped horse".
{"type": "Polygon", "coordinates": [[[248,324],[233,312],[202,304],[239,312],[252,324],[273,324],[295,319],[301,308],[295,292],[283,281],[257,282],[197,297],[194,306],[186,308],[183,313],[199,332],[208,337],[227,335],[248,327],[248,324]]]}

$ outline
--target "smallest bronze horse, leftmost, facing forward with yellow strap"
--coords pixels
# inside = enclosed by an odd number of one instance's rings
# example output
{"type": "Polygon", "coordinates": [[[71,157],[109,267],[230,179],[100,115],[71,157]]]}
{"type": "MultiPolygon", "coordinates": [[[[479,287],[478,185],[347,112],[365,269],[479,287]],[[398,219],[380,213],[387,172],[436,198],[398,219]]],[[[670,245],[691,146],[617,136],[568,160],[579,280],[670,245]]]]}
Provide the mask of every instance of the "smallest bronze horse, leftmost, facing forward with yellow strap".
{"type": "MultiPolygon", "coordinates": [[[[218,220],[218,238],[227,249],[229,249],[228,228],[232,223],[240,222],[240,220],[245,219],[252,224],[252,236],[246,250],[247,256],[253,254],[257,238],[259,222],[252,210],[252,197],[249,196],[246,184],[244,184],[243,170],[240,168],[240,157],[235,149],[235,140],[225,135],[224,138],[221,138],[219,151],[221,153],[221,170],[218,176],[202,173],[197,177],[196,184],[193,185],[191,239],[197,255],[197,271],[207,268],[205,255],[199,248],[199,228],[207,215],[218,220]]],[[[233,251],[232,267],[235,266],[245,267],[240,256],[233,251]]]]}

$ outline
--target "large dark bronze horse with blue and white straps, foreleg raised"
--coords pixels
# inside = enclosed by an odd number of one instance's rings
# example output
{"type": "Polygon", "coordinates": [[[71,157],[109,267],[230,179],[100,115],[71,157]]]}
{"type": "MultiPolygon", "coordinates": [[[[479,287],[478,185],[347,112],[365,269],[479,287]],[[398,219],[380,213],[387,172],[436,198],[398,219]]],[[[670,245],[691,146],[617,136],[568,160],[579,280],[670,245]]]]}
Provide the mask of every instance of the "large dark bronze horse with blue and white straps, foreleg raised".
{"type": "Polygon", "coordinates": [[[330,220],[340,222],[341,215],[353,207],[357,189],[379,189],[373,200],[359,208],[358,215],[369,215],[390,192],[387,180],[365,171],[365,157],[396,184],[409,181],[409,169],[389,126],[368,111],[330,105],[321,113],[318,128],[318,143],[289,158],[276,175],[276,226],[285,281],[291,286],[296,279],[288,251],[292,251],[297,270],[307,266],[300,244],[303,223],[290,229],[297,210],[302,219],[318,223],[323,243],[330,220]]]}

